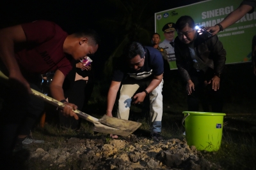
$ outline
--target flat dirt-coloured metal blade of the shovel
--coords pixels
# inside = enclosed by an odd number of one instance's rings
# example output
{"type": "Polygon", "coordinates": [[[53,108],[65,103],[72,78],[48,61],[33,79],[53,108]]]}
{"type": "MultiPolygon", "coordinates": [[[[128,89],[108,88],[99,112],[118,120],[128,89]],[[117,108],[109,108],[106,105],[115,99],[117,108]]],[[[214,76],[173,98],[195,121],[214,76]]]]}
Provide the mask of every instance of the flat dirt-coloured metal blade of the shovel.
{"type": "Polygon", "coordinates": [[[141,126],[141,123],[139,122],[133,122],[131,120],[124,120],[115,117],[108,117],[106,115],[100,118],[99,122],[104,127],[95,124],[93,131],[108,134],[118,134],[122,136],[128,136],[129,134],[132,134],[132,132],[136,131],[141,126]]]}

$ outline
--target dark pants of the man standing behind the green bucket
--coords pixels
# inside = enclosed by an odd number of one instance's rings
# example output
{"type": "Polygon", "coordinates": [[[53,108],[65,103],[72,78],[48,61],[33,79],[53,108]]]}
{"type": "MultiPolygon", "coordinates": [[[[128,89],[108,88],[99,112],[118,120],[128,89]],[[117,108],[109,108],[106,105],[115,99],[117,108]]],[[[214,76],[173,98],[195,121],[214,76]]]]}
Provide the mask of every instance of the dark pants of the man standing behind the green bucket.
{"type": "Polygon", "coordinates": [[[199,111],[199,103],[201,102],[202,108],[205,112],[222,113],[223,97],[220,89],[217,91],[212,90],[212,83],[205,86],[204,81],[211,80],[214,76],[213,70],[209,69],[206,73],[204,71],[196,71],[195,69],[189,71],[191,81],[195,85],[195,90],[188,95],[188,111],[199,111]],[[211,110],[209,108],[211,106],[211,110]]]}

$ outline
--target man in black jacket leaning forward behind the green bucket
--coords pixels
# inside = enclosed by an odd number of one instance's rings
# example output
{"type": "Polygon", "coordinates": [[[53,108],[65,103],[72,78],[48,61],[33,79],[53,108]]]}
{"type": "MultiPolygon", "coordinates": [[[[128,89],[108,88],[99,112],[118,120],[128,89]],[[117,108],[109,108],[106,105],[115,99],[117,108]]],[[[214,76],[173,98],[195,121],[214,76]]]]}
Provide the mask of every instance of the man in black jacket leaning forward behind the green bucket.
{"type": "MultiPolygon", "coordinates": [[[[199,101],[205,102],[205,88],[211,96],[213,112],[222,112],[220,80],[225,67],[226,51],[218,36],[205,38],[195,29],[189,16],[176,22],[178,36],[175,38],[176,64],[186,81],[188,110],[198,111],[199,101]]],[[[209,111],[205,107],[204,111],[209,111]]]]}

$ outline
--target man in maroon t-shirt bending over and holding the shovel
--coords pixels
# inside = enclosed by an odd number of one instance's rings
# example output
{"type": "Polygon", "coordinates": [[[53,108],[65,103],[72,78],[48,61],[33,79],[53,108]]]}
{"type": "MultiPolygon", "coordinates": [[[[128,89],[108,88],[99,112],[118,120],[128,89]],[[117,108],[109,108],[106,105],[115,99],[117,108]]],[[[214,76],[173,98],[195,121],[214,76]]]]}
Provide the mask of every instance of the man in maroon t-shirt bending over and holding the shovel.
{"type": "Polygon", "coordinates": [[[100,40],[95,31],[68,35],[45,20],[1,29],[0,37],[0,69],[9,77],[0,115],[0,160],[4,162],[12,161],[13,146],[19,130],[28,124],[28,113],[33,114],[29,121],[33,125],[44,109],[44,102],[31,96],[30,88],[35,87],[38,74],[56,71],[50,87],[52,97],[66,104],[64,115],[78,119],[72,111],[77,106],[65,101],[62,84],[72,62],[95,53],[100,40]]]}

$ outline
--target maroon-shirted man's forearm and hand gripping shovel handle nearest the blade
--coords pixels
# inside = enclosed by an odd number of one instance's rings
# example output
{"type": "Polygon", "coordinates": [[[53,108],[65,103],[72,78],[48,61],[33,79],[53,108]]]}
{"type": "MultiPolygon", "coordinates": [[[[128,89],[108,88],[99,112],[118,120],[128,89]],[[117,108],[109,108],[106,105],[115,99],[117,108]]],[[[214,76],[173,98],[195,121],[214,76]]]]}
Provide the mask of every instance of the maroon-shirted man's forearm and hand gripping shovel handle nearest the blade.
{"type": "MultiPolygon", "coordinates": [[[[57,70],[50,84],[52,97],[58,101],[65,100],[64,92],[62,89],[64,80],[65,80],[64,74],[60,70],[57,70]]],[[[77,110],[77,106],[72,103],[67,103],[67,102],[64,102],[64,103],[66,104],[66,106],[62,110],[63,115],[74,117],[76,118],[76,120],[78,120],[78,116],[73,111],[73,110],[77,110]]]]}

